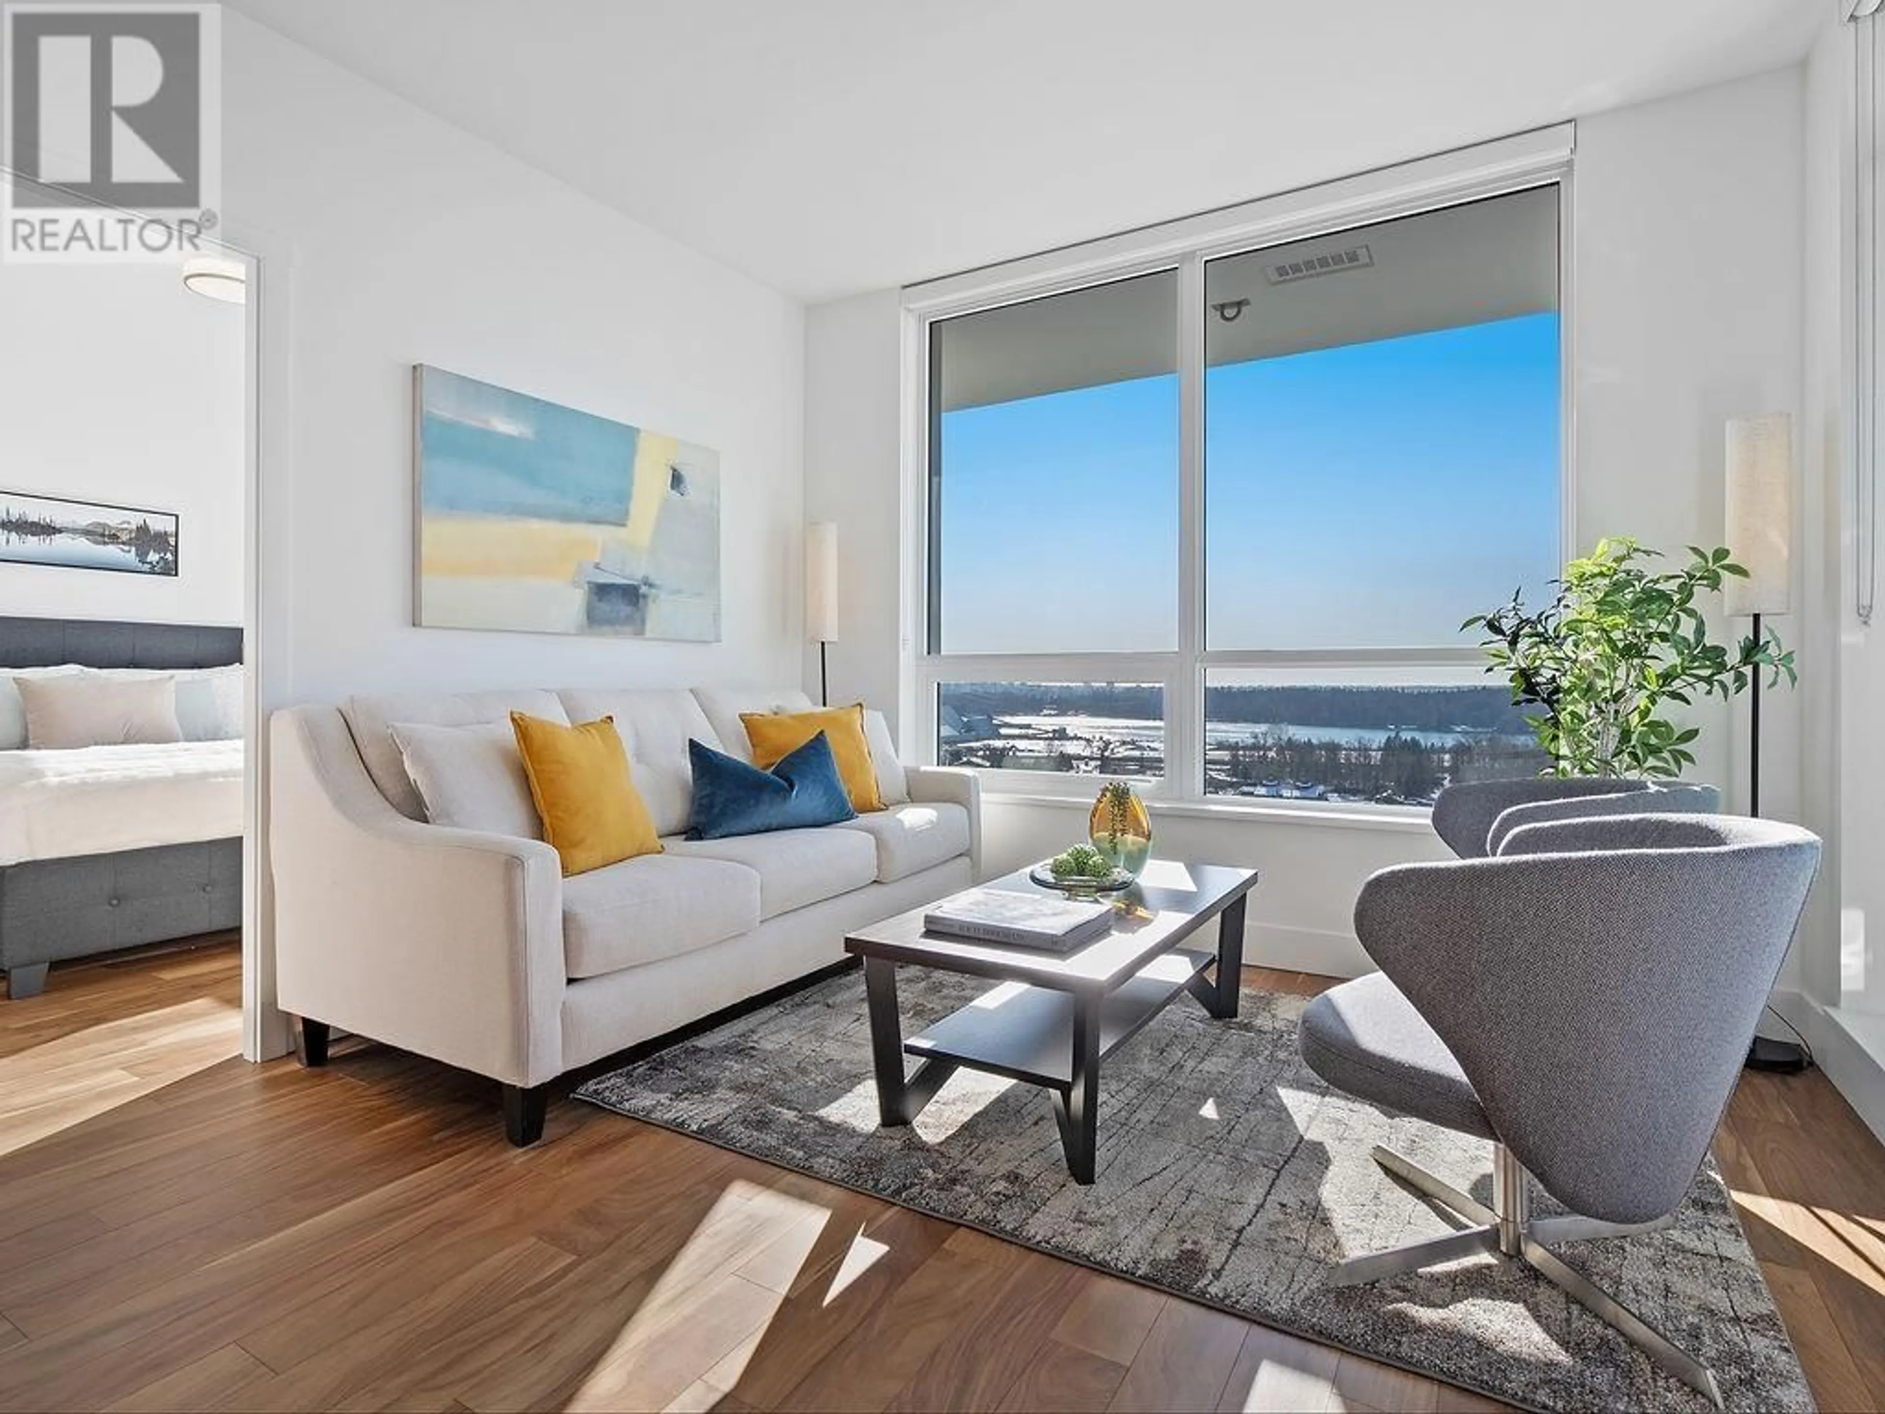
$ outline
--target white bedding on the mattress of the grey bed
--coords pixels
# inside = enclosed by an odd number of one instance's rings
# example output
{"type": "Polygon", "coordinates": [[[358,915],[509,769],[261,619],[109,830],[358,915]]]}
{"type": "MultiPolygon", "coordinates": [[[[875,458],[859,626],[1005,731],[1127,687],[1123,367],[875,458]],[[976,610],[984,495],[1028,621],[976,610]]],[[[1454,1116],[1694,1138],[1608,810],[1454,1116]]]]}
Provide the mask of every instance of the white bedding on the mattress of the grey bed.
{"type": "Polygon", "coordinates": [[[239,835],[241,748],[0,750],[0,865],[239,835]]]}

